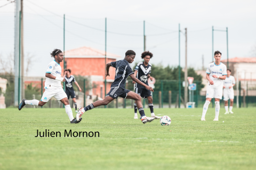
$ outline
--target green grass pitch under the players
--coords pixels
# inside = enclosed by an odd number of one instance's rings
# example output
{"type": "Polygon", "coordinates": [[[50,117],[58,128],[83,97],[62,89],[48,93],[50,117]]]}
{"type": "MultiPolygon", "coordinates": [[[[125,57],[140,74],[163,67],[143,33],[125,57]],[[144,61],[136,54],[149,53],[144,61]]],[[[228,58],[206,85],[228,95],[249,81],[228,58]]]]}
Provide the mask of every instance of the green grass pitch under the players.
{"type": "Polygon", "coordinates": [[[256,169],[255,108],[233,111],[221,108],[215,122],[213,108],[206,121],[201,108],[155,109],[172,119],[161,126],[134,120],[133,109],[93,109],[79,124],[61,108],[0,109],[0,169],[256,169]],[[45,129],[61,138],[35,138],[45,129]],[[65,129],[100,137],[65,138],[65,129]]]}

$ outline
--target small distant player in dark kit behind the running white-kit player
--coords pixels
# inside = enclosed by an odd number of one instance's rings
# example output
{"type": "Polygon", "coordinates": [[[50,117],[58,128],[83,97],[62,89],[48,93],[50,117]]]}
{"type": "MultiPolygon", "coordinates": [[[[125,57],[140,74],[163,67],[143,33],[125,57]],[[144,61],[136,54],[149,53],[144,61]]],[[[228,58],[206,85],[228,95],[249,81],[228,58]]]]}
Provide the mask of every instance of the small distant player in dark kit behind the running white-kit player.
{"type": "Polygon", "coordinates": [[[76,95],[75,95],[75,90],[73,88],[73,82],[76,84],[76,86],[78,87],[79,91],[82,91],[82,89],[80,88],[79,84],[76,82],[75,77],[73,75],[70,75],[71,70],[70,69],[65,69],[64,70],[64,75],[65,75],[65,92],[68,96],[71,96],[71,99],[74,101],[74,105],[75,105],[75,109],[76,109],[76,113],[77,113],[77,104],[76,104],[76,95]]]}

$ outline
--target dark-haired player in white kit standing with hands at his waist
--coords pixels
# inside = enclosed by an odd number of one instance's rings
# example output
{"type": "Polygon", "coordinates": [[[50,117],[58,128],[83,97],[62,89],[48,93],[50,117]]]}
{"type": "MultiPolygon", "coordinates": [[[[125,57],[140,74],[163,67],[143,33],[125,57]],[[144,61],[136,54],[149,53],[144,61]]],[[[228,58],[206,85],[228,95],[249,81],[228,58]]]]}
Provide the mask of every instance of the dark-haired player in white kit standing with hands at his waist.
{"type": "Polygon", "coordinates": [[[212,98],[215,98],[215,118],[213,121],[219,121],[220,99],[222,99],[223,80],[227,76],[227,67],[220,62],[221,53],[214,53],[215,62],[210,63],[206,70],[206,79],[209,81],[209,86],[206,90],[206,101],[203,108],[201,121],[205,121],[205,114],[212,98]]]}

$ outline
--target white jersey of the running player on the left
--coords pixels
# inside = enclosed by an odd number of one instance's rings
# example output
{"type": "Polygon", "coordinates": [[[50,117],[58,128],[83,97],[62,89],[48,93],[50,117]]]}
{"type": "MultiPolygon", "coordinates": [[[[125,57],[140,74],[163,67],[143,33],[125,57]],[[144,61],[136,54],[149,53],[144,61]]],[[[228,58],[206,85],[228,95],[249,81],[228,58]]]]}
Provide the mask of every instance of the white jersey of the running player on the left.
{"type": "MultiPolygon", "coordinates": [[[[55,60],[48,64],[46,73],[51,73],[53,76],[60,78],[61,77],[61,66],[55,60]]],[[[59,80],[46,78],[44,83],[45,89],[60,89],[61,82],[59,80]]]]}

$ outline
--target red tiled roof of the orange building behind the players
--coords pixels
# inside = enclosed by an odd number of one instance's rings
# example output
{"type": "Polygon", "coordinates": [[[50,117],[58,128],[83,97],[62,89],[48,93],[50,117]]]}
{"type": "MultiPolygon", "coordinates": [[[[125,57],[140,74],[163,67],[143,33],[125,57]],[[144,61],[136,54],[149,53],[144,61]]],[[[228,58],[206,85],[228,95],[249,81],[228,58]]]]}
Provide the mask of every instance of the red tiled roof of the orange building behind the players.
{"type": "MultiPolygon", "coordinates": [[[[65,56],[105,56],[105,51],[91,48],[91,47],[80,47],[80,48],[75,48],[75,49],[70,49],[65,51],[65,56]]],[[[108,53],[107,56],[111,57],[121,57],[116,54],[108,53]]]]}

